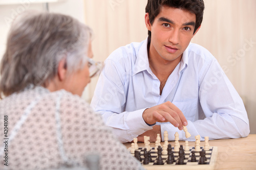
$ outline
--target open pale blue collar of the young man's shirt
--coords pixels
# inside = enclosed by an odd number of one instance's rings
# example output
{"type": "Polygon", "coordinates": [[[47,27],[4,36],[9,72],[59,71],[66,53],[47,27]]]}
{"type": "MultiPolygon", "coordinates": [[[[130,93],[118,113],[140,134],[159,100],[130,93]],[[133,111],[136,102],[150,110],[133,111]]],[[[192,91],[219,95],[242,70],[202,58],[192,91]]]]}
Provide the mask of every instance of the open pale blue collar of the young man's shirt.
{"type": "MultiPolygon", "coordinates": [[[[140,71],[147,70],[148,72],[152,72],[150,69],[150,64],[148,62],[148,56],[147,56],[147,42],[148,38],[146,38],[143,42],[142,45],[139,48],[137,59],[135,61],[135,66],[133,70],[133,76],[136,75],[140,71]]],[[[182,58],[180,61],[180,68],[179,72],[183,72],[187,68],[187,63],[188,63],[188,47],[182,54],[182,58]]]]}

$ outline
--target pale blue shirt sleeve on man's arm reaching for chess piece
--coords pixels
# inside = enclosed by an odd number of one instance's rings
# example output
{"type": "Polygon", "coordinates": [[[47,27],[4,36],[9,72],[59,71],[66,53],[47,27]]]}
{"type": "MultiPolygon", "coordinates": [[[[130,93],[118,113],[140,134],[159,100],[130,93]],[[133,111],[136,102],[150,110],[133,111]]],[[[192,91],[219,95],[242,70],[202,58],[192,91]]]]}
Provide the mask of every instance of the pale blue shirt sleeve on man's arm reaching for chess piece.
{"type": "Polygon", "coordinates": [[[131,70],[125,69],[122,62],[107,59],[91,102],[91,107],[102,115],[104,123],[112,127],[121,142],[132,141],[133,138],[152,129],[142,118],[146,108],[124,111],[127,100],[126,87],[132,74],[131,70]]]}

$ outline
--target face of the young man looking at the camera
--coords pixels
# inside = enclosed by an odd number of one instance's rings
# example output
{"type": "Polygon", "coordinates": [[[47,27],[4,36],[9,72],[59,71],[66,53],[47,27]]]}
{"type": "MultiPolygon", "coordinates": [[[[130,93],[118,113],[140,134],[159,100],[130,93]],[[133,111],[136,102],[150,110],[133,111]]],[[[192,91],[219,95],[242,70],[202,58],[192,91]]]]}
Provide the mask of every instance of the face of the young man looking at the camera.
{"type": "MultiPolygon", "coordinates": [[[[145,16],[147,29],[151,31],[150,58],[168,62],[180,60],[193,38],[196,15],[189,11],[167,6],[161,7],[153,25],[145,16]],[[148,23],[148,24],[147,24],[148,23]]],[[[197,30],[198,31],[198,30],[197,30]]]]}

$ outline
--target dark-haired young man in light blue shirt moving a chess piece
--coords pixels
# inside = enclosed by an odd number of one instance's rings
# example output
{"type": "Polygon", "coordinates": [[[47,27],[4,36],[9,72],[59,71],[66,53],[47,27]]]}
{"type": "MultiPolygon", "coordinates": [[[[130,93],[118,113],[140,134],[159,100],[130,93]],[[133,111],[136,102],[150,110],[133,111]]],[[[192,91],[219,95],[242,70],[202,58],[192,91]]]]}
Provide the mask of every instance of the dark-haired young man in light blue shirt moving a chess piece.
{"type": "Polygon", "coordinates": [[[148,0],[148,38],[118,48],[105,61],[91,106],[122,142],[156,140],[167,131],[191,137],[245,137],[243,101],[217,60],[190,43],[203,19],[202,0],[148,0]]]}

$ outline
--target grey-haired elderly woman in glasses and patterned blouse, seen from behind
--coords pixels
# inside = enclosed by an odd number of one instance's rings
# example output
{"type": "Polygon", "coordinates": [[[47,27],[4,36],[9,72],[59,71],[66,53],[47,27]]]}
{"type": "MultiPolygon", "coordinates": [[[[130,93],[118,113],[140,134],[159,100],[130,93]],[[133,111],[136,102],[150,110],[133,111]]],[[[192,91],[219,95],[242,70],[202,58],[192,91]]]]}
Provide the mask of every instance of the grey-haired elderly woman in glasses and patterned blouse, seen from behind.
{"type": "Polygon", "coordinates": [[[86,167],[91,154],[99,155],[101,169],[142,168],[80,98],[97,71],[91,35],[89,27],[61,14],[26,13],[14,20],[0,66],[1,133],[8,128],[0,169],[86,167]]]}

